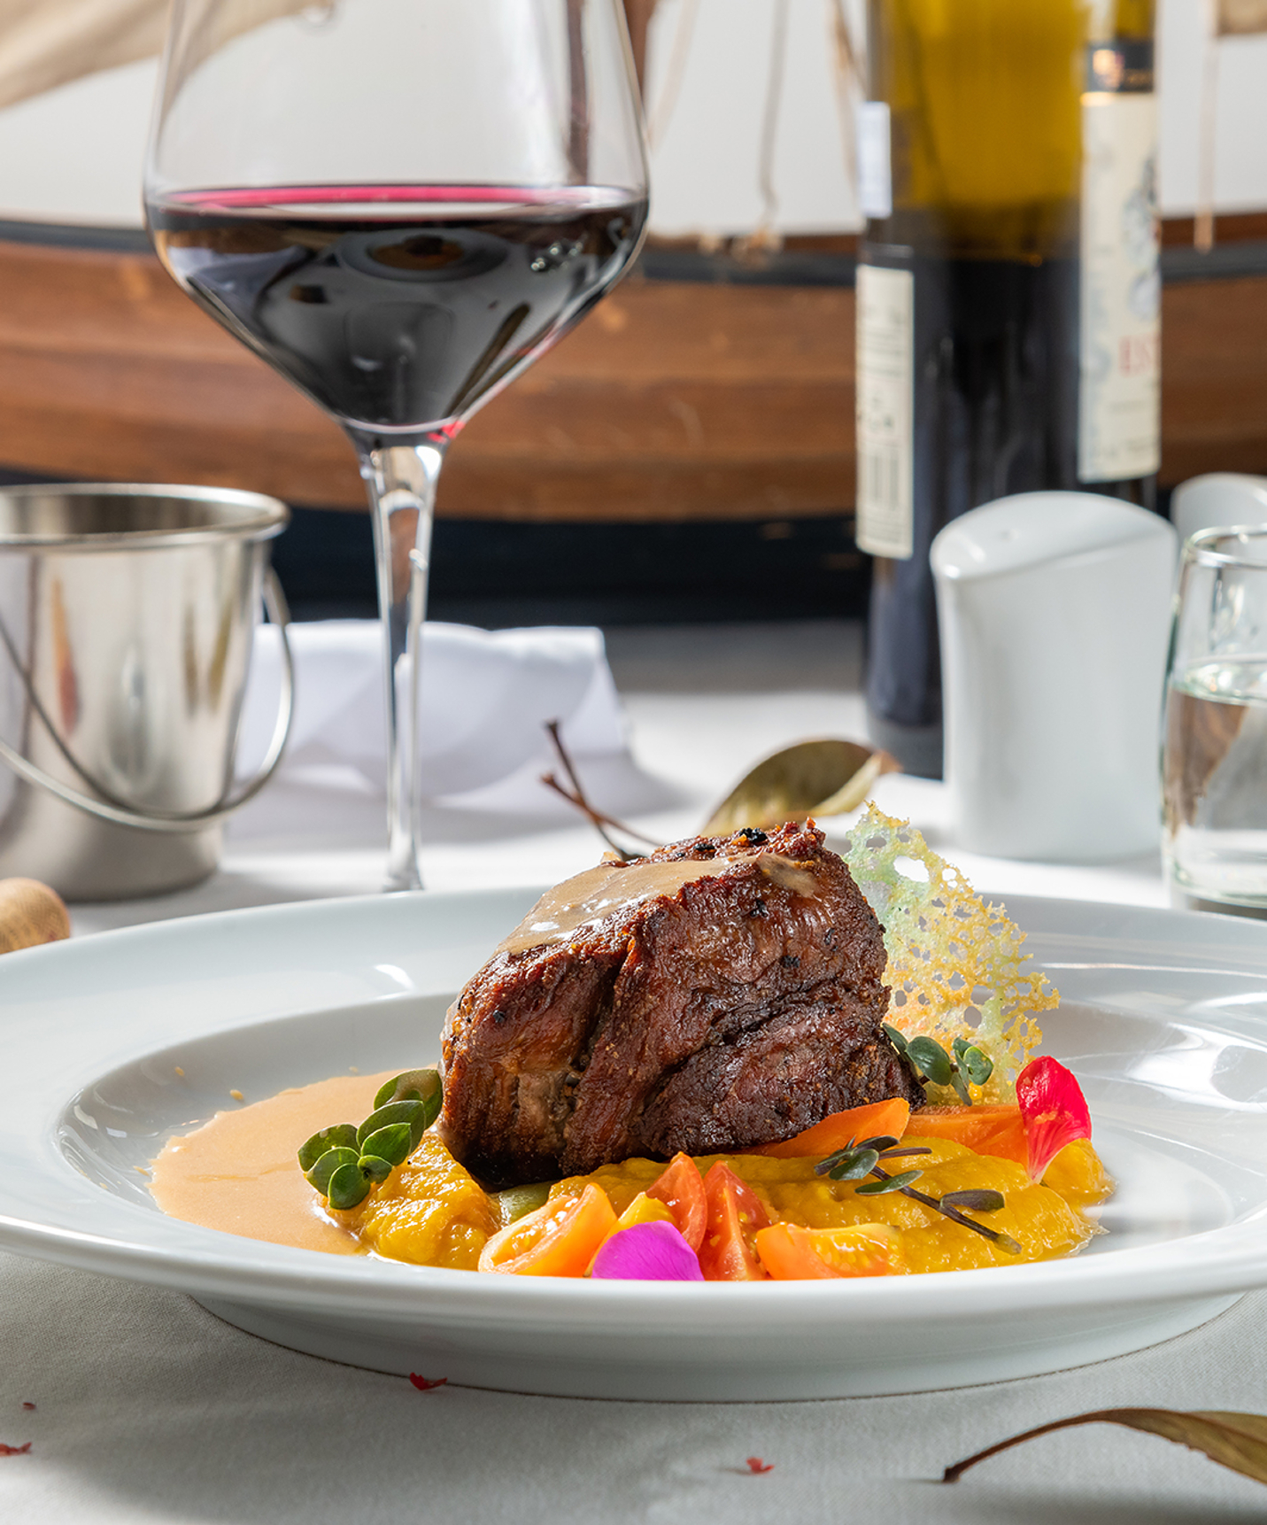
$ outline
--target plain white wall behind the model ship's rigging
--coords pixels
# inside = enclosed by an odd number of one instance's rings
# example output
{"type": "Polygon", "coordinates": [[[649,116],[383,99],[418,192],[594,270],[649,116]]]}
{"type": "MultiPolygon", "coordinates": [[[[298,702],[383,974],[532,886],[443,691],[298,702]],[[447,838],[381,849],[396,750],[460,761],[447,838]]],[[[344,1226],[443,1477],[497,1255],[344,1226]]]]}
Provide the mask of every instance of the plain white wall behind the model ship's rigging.
{"type": "MultiPolygon", "coordinates": [[[[662,0],[651,34],[653,125],[683,6],[662,0]]],[[[756,226],[761,120],[776,0],[694,0],[677,105],[653,152],[653,226],[735,233],[756,226]]],[[[857,0],[851,0],[855,5],[857,0]]],[[[1160,195],[1168,214],[1197,201],[1204,0],[1160,0],[1160,195]]],[[[775,226],[857,226],[845,172],[829,0],[790,0],[775,145],[775,226]]],[[[1267,37],[1218,46],[1215,206],[1267,207],[1267,37]]],[[[156,64],[130,64],[0,111],[0,218],[140,224],[140,163],[156,64]]]]}

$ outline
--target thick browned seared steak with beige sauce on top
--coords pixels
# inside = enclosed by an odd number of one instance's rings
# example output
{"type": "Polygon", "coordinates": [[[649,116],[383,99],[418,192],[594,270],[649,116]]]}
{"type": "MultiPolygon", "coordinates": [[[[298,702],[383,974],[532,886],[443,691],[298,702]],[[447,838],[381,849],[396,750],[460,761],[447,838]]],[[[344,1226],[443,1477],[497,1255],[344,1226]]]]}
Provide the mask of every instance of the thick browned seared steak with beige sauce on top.
{"type": "Polygon", "coordinates": [[[791,1138],[922,1090],[881,929],[814,827],[695,837],[550,891],[448,1013],[441,1130],[494,1183],[791,1138]]]}

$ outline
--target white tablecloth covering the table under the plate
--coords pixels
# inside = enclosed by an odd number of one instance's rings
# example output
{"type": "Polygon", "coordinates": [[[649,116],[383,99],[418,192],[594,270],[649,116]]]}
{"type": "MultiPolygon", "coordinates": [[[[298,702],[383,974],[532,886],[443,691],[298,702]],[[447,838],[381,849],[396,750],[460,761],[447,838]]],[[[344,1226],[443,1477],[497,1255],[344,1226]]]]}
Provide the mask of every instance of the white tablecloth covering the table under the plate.
{"type": "MultiPolygon", "coordinates": [[[[864,735],[861,700],[814,653],[843,627],[657,633],[625,650],[633,758],[595,766],[596,801],[665,840],[698,828],[744,766],[808,735],[864,735]],[[794,633],[793,633],[794,634],[794,633]],[[746,645],[747,642],[747,645],[746,645]],[[729,657],[727,657],[729,650],[729,657]],[[643,651],[645,656],[645,651],[643,651]],[[778,691],[776,685],[791,685],[778,691]],[[694,685],[694,686],[692,686],[694,685]]],[[[829,665],[828,665],[829,666],[829,665]]],[[[880,804],[942,836],[941,785],[881,781],[880,804]]],[[[370,894],[381,798],[351,772],[270,788],[235,824],[223,872],[163,900],[76,907],[76,932],[229,906],[370,894]]],[[[425,814],[435,889],[540,883],[595,860],[569,807],[518,776],[425,814]]],[[[1156,859],[1069,868],[962,862],[996,897],[1165,904],[1156,859]]],[[[948,1313],[948,1316],[953,1316],[948,1313]]],[[[1072,1430],[986,1462],[948,1462],[1032,1424],[1133,1405],[1267,1411],[1267,1295],[1134,1356],[1023,1382],[892,1398],[650,1405],[439,1388],[299,1356],[188,1298],[0,1257],[0,1519],[351,1522],[1003,1522],[1186,1525],[1267,1517],[1267,1490],[1154,1437],[1072,1430]],[[23,1408],[34,1403],[35,1409],[23,1408]],[[747,1456],[773,1462],[759,1476],[747,1456]]],[[[435,1376],[442,1376],[436,1372],[435,1376]]]]}

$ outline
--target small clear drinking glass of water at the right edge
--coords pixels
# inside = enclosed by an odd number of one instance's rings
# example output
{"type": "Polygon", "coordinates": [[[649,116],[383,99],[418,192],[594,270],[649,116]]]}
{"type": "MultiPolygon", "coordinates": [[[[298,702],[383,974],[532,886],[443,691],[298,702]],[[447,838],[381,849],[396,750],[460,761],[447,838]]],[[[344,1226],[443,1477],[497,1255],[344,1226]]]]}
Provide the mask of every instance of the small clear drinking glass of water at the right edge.
{"type": "Polygon", "coordinates": [[[1162,788],[1174,897],[1267,917],[1267,529],[1183,547],[1162,788]]]}

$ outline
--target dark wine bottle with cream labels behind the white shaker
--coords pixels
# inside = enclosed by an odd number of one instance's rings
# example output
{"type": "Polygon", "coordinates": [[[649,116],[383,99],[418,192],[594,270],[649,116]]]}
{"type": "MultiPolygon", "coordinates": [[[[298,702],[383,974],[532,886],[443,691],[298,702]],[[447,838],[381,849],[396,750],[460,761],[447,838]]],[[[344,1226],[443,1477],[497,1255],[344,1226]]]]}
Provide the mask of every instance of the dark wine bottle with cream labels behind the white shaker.
{"type": "Polygon", "coordinates": [[[869,0],[858,531],[872,740],[941,775],[929,546],[993,499],[1153,506],[1153,0],[869,0]]]}

